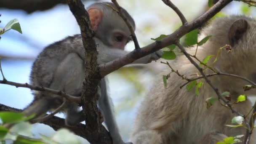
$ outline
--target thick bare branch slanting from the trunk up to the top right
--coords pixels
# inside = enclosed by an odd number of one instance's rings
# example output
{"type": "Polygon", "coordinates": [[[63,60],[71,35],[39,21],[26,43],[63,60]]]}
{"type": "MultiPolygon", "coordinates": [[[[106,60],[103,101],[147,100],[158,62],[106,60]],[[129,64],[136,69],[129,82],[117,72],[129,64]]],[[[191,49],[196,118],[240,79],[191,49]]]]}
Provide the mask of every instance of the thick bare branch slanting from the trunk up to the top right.
{"type": "Polygon", "coordinates": [[[126,64],[131,64],[136,59],[139,59],[143,56],[147,56],[150,53],[153,53],[155,51],[160,50],[161,48],[164,48],[168,45],[175,43],[186,33],[192,31],[193,29],[196,29],[197,27],[200,27],[206,21],[211,19],[216,13],[218,13],[222,8],[224,8],[231,1],[232,0],[219,0],[219,2],[213,5],[208,11],[203,13],[203,15],[201,15],[200,17],[198,17],[192,22],[182,25],[181,27],[179,27],[179,29],[177,29],[171,35],[168,35],[162,40],[157,40],[154,43],[151,43],[143,48],[135,49],[131,51],[131,53],[128,53],[127,55],[121,58],[115,59],[114,61],[110,61],[106,64],[101,64],[100,66],[101,76],[104,77],[107,74],[119,69],[120,67],[125,66],[126,64]]]}

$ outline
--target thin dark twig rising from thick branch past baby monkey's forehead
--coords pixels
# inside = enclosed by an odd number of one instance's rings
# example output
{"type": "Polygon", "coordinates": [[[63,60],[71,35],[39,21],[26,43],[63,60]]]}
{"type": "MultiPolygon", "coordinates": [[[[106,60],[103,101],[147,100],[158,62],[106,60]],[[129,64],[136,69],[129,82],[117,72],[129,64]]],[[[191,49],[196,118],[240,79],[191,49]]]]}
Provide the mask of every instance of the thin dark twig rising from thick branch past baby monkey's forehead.
{"type": "Polygon", "coordinates": [[[140,46],[139,46],[139,42],[137,40],[137,37],[134,33],[134,29],[133,27],[131,26],[130,22],[127,20],[127,18],[125,17],[125,15],[122,13],[121,11],[121,7],[120,5],[117,3],[116,0],[111,0],[112,3],[115,4],[115,6],[117,7],[117,10],[119,12],[119,15],[122,17],[122,19],[125,21],[125,24],[127,25],[127,27],[129,28],[130,32],[131,32],[131,38],[133,39],[133,43],[134,43],[134,46],[135,46],[135,49],[139,49],[140,46]]]}

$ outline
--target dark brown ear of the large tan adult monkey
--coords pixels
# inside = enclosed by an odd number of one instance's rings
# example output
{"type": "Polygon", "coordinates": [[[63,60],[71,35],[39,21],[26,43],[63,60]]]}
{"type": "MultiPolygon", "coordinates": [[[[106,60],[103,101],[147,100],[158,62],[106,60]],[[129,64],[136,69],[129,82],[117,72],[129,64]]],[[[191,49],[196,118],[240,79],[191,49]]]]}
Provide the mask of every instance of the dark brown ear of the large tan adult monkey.
{"type": "Polygon", "coordinates": [[[229,29],[229,43],[234,46],[243,37],[243,34],[249,28],[249,24],[245,19],[236,20],[229,29]]]}

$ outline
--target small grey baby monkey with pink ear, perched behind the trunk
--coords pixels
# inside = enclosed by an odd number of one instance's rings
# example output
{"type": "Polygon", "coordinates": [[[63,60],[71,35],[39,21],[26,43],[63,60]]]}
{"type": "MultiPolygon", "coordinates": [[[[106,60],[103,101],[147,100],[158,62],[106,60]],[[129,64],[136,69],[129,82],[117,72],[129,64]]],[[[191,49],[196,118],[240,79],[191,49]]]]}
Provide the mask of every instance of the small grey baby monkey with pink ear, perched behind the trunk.
{"type": "MultiPolygon", "coordinates": [[[[124,47],[131,40],[131,33],[123,19],[112,8],[115,8],[113,3],[94,3],[87,8],[93,30],[96,33],[94,39],[99,51],[99,64],[112,61],[129,53],[124,51],[124,47]]],[[[129,13],[123,8],[121,11],[135,29],[135,23],[129,13]]],[[[159,59],[161,54],[162,51],[157,51],[134,61],[134,63],[147,64],[152,60],[159,59]]],[[[37,56],[32,66],[31,83],[61,90],[73,96],[80,96],[84,79],[84,59],[81,35],[67,37],[53,43],[37,56]]],[[[113,143],[122,144],[123,140],[118,131],[112,101],[107,95],[106,87],[106,80],[103,78],[99,84],[100,98],[98,106],[104,115],[113,143]]],[[[34,91],[33,94],[34,100],[23,111],[26,115],[36,114],[36,118],[38,118],[63,103],[62,98],[48,92],[34,91]]],[[[68,102],[63,109],[64,112],[67,112],[65,120],[67,125],[75,125],[83,121],[83,112],[79,111],[78,108],[77,104],[68,102]]]]}

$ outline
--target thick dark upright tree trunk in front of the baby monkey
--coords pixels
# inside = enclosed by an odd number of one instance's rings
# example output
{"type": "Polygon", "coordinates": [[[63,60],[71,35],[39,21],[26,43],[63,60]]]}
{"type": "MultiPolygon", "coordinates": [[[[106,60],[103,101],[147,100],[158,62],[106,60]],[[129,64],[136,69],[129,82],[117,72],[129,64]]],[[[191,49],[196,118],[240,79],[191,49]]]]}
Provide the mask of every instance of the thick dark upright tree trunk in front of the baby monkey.
{"type": "Polygon", "coordinates": [[[112,139],[100,122],[99,109],[97,107],[97,88],[101,80],[97,64],[97,49],[93,39],[94,33],[87,11],[81,0],[67,0],[70,11],[75,16],[80,27],[83,46],[85,48],[85,81],[82,88],[82,107],[85,114],[84,131],[90,131],[87,140],[91,144],[112,144],[112,139]]]}

